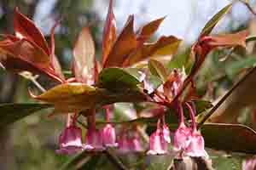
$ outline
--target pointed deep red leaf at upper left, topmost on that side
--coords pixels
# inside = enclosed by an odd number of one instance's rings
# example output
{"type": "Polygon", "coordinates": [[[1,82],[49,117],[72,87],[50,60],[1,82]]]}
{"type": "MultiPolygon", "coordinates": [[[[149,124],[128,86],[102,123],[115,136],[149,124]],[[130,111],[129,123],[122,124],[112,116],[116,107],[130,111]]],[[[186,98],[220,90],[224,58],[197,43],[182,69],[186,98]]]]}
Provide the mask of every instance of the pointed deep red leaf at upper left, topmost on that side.
{"type": "Polygon", "coordinates": [[[15,34],[17,37],[27,38],[28,40],[35,42],[40,48],[44,49],[46,54],[50,54],[49,46],[44,39],[44,35],[24,14],[20,14],[18,8],[15,8],[14,18],[15,34]]]}

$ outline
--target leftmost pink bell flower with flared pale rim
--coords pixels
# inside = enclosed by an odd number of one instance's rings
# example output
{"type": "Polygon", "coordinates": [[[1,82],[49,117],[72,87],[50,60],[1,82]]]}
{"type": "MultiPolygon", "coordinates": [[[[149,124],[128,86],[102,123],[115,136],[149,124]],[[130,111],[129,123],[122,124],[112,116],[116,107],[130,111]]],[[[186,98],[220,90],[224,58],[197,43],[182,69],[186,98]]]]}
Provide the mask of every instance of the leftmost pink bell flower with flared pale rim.
{"type": "Polygon", "coordinates": [[[59,144],[60,149],[56,152],[60,154],[73,154],[83,150],[81,128],[74,125],[66,127],[59,137],[59,144]]]}

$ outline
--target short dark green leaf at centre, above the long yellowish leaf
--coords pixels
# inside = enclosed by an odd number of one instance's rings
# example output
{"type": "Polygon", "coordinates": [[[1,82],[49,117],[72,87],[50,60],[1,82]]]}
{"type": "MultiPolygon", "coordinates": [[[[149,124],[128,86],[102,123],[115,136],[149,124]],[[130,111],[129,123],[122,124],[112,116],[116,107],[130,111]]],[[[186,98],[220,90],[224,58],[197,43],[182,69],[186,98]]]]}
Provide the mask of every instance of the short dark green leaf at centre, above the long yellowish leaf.
{"type": "Polygon", "coordinates": [[[137,69],[107,68],[99,75],[98,86],[100,88],[136,88],[137,84],[143,82],[145,74],[137,69]]]}

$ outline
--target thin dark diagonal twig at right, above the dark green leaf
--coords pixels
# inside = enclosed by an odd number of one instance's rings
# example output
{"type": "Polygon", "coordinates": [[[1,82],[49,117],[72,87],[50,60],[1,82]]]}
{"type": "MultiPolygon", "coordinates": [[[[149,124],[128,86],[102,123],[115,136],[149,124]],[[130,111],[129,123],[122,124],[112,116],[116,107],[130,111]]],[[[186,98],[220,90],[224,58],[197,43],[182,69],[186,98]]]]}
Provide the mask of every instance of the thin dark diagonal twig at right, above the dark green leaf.
{"type": "Polygon", "coordinates": [[[252,75],[254,71],[256,71],[256,67],[254,67],[251,71],[249,71],[246,76],[242,77],[241,80],[240,80],[239,82],[237,82],[237,83],[235,84],[235,86],[233,86],[233,88],[231,88],[230,91],[229,91],[227,94],[225,94],[222,99],[220,99],[220,100],[218,101],[218,103],[217,103],[216,105],[213,106],[212,110],[209,111],[205,116],[203,116],[203,118],[201,119],[201,121],[198,123],[198,126],[197,126],[197,127],[200,128],[200,127],[204,124],[204,122],[206,122],[207,119],[208,119],[210,116],[212,116],[212,114],[213,114],[215,111],[218,110],[218,107],[224,103],[224,101],[230,96],[230,94],[232,94],[233,91],[234,91],[236,88],[238,88],[238,87],[241,85],[242,82],[244,82],[244,81],[247,79],[247,77],[249,77],[250,75],[252,75]]]}

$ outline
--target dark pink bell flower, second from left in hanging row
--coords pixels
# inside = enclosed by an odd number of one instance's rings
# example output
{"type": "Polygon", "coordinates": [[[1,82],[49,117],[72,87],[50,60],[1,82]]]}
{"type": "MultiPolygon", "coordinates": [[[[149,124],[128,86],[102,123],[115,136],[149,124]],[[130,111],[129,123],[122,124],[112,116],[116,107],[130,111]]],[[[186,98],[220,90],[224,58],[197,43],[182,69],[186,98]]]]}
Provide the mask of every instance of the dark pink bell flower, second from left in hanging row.
{"type": "Polygon", "coordinates": [[[90,127],[85,136],[85,150],[104,150],[102,132],[96,127],[90,127]]]}

